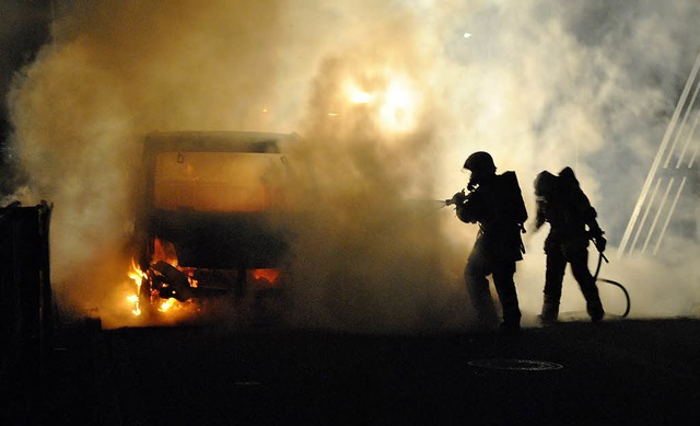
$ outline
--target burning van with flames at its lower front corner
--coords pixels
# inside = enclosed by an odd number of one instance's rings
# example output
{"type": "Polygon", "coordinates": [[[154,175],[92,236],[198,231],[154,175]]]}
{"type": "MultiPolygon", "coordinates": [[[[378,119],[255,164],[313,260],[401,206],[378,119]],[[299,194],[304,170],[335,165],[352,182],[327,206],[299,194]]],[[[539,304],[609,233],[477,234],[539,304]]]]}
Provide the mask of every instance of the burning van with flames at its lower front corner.
{"type": "MultiPolygon", "coordinates": [[[[282,148],[294,134],[154,133],[144,140],[130,277],[133,313],[224,297],[283,298],[291,199],[282,148]]],[[[272,303],[279,304],[279,303],[272,303]]]]}

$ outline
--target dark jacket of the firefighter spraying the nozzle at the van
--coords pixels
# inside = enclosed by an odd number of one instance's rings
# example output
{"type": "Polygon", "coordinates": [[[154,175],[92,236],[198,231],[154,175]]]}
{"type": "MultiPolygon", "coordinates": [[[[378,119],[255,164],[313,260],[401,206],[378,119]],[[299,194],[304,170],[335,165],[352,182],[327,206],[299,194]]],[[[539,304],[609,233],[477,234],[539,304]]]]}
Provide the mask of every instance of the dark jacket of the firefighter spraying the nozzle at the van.
{"type": "Polygon", "coordinates": [[[456,204],[459,220],[479,223],[478,243],[492,258],[523,258],[521,232],[527,220],[521,187],[515,172],[493,175],[456,204]]]}

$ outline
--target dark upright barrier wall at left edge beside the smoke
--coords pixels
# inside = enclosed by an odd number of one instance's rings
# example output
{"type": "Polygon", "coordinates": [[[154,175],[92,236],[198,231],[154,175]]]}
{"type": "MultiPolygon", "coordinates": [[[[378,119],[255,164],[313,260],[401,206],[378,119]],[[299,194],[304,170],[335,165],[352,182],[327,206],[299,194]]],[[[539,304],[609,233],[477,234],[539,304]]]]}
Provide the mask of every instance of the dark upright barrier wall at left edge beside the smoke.
{"type": "Polygon", "coordinates": [[[2,377],[42,368],[52,329],[49,273],[51,206],[0,208],[0,332],[2,377]]]}

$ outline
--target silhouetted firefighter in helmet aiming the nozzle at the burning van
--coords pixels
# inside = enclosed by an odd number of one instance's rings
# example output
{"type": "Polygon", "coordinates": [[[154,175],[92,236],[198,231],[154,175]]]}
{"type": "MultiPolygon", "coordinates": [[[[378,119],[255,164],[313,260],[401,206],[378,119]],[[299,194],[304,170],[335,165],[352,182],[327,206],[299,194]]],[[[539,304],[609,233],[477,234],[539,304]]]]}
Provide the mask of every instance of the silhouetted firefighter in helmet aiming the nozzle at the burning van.
{"type": "Polygon", "coordinates": [[[479,223],[464,272],[467,292],[479,325],[495,326],[499,316],[489,289],[488,276],[491,275],[503,315],[499,331],[517,334],[521,311],[513,276],[516,262],[523,258],[521,232],[527,220],[517,177],[512,171],[495,174],[493,159],[483,151],[469,156],[464,169],[471,172],[469,192],[455,194],[448,204],[456,206],[457,218],[463,222],[479,223]]]}

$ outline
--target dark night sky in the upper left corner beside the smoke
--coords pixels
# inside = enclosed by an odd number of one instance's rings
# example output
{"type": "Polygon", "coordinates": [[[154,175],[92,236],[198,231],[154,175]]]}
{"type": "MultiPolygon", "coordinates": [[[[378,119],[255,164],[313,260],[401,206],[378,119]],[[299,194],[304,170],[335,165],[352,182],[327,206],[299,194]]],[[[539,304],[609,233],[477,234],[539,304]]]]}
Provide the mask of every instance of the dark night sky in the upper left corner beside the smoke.
{"type": "Polygon", "coordinates": [[[11,168],[5,158],[7,138],[11,133],[7,95],[13,76],[30,64],[49,38],[49,0],[3,0],[0,2],[0,195],[10,184],[11,168]]]}

